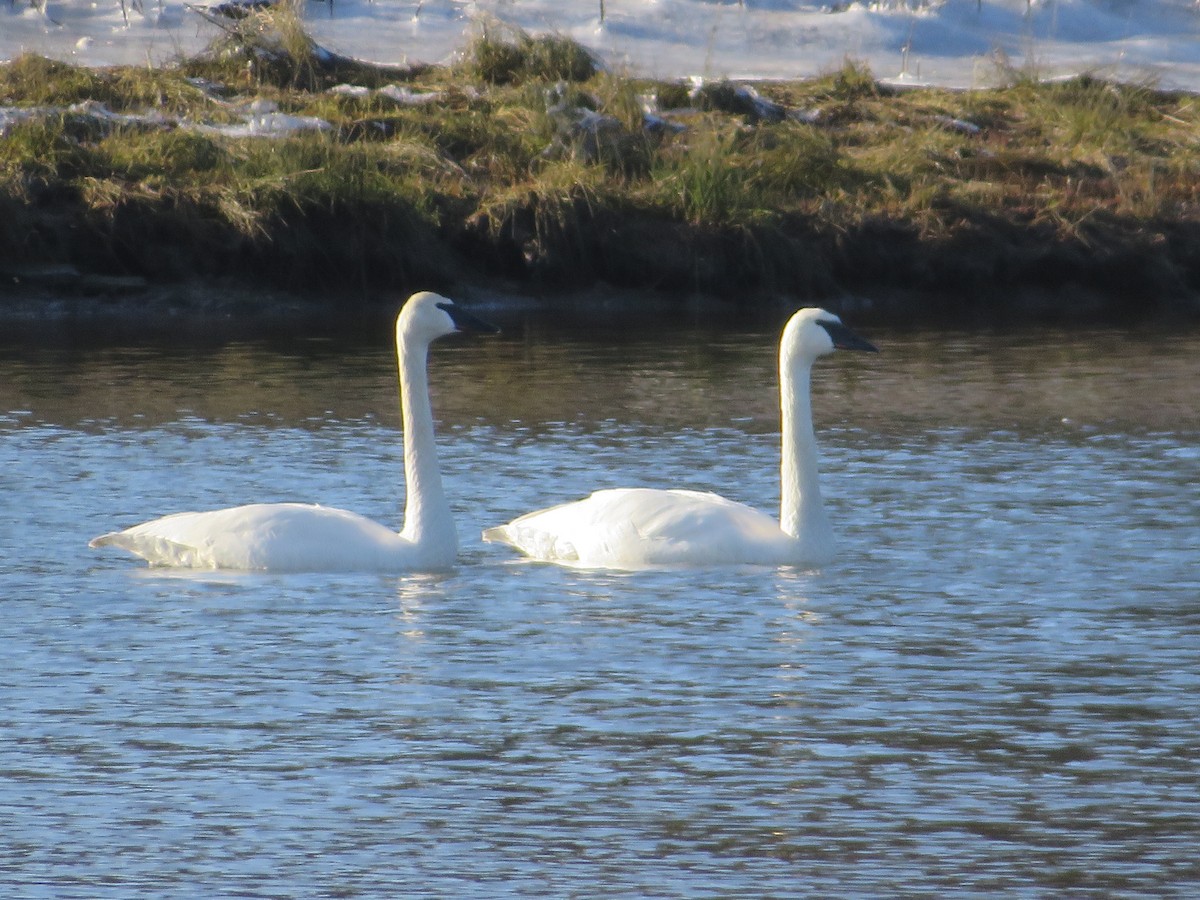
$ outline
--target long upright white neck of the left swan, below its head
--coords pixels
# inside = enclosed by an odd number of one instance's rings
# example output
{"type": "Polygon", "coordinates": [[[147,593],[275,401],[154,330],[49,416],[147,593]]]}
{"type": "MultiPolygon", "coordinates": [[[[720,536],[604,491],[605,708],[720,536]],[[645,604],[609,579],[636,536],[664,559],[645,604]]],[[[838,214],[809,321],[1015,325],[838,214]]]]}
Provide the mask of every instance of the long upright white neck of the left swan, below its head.
{"type": "Polygon", "coordinates": [[[450,504],[442,488],[438,448],[433,437],[433,409],[426,371],[430,348],[414,341],[406,346],[397,336],[400,404],[404,427],[404,530],[413,544],[457,548],[450,504]]]}

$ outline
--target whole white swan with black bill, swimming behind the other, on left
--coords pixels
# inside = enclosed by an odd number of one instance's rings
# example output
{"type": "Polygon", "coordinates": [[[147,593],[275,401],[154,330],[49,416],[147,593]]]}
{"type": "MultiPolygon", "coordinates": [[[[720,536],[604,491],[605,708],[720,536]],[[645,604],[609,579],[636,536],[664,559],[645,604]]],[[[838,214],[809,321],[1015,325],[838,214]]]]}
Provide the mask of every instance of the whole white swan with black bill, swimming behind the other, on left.
{"type": "Polygon", "coordinates": [[[305,503],[253,503],[176,512],[94,538],[150,565],[264,571],[407,571],[451,566],[458,554],[442,490],[426,360],[430,344],[455,331],[494,334],[452,300],[420,292],[396,317],[396,358],[404,427],[404,529],[397,534],[355,512],[305,503]]]}

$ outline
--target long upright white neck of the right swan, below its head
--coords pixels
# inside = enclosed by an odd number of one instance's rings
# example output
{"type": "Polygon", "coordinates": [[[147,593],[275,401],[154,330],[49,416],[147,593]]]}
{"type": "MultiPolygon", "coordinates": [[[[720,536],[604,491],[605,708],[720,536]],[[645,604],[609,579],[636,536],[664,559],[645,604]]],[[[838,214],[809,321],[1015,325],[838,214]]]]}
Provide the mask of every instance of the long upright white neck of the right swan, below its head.
{"type": "Polygon", "coordinates": [[[811,366],[806,362],[780,359],[784,446],[779,524],[793,538],[823,541],[830,529],[821,503],[817,443],[812,433],[811,372],[811,366]]]}

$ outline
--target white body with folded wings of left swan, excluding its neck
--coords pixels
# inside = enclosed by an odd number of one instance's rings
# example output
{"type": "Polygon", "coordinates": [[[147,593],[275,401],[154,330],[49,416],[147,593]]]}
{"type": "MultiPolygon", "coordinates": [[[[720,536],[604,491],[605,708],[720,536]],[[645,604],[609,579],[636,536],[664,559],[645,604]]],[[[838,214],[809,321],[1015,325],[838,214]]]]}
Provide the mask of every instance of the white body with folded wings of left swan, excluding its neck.
{"type": "Polygon", "coordinates": [[[120,547],[150,565],[272,571],[391,568],[413,547],[358,514],[301,503],[176,512],[103,534],[90,546],[120,547]]]}

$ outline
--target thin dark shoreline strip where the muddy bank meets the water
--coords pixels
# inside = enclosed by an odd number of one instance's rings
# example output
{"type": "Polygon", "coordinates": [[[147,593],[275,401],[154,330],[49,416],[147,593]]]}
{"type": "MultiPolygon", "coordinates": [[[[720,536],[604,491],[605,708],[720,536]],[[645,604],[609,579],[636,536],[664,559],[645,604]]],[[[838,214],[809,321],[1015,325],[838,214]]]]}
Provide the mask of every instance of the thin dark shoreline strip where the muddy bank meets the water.
{"type": "MultiPolygon", "coordinates": [[[[416,286],[413,290],[426,289],[416,286]]],[[[432,289],[432,288],[430,288],[432,289]]],[[[529,293],[520,286],[458,284],[440,293],[473,312],[518,325],[536,320],[554,326],[604,329],[660,328],[665,323],[689,326],[726,323],[743,329],[773,330],[803,306],[822,306],[860,328],[892,331],[1003,331],[1022,332],[1117,329],[1121,331],[1194,331],[1200,316],[1190,310],[1165,308],[1154,314],[1087,314],[1080,308],[1103,308],[1098,295],[1075,298],[1070,316],[1062,298],[1050,292],[1026,292],[1006,314],[965,310],[959,298],[929,292],[881,290],[838,298],[763,295],[754,302],[733,304],[713,294],[662,294],[644,289],[618,289],[596,283],[586,288],[529,293]]],[[[0,292],[0,344],[23,341],[101,341],[154,343],[186,338],[204,343],[242,340],[331,337],[358,338],[386,331],[407,298],[385,292],[371,300],[331,304],[300,294],[260,290],[241,284],[192,282],[151,286],[113,294],[73,294],[25,289],[0,292]]],[[[523,325],[520,325],[523,326],[523,325]]]]}

